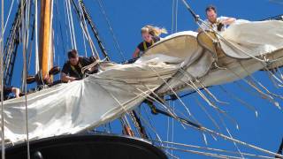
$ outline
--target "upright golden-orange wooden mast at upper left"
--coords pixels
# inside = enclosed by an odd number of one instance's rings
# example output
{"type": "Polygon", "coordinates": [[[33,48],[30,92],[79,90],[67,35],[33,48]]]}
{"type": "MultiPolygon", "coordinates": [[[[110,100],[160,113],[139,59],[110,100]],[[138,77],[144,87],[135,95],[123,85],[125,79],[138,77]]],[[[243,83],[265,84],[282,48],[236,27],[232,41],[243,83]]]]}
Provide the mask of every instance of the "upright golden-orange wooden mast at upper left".
{"type": "Polygon", "coordinates": [[[42,0],[41,2],[41,27],[40,27],[40,45],[39,62],[42,77],[44,78],[53,65],[53,54],[51,44],[51,11],[52,0],[42,0]]]}

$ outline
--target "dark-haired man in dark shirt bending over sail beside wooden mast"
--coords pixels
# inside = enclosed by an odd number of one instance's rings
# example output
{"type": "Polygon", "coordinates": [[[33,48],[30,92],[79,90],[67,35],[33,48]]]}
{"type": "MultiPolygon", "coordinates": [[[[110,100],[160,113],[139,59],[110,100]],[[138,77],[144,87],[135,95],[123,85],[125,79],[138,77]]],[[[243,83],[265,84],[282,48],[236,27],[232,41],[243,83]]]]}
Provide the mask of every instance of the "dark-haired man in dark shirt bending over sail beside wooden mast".
{"type": "Polygon", "coordinates": [[[79,57],[76,49],[68,52],[68,58],[69,60],[64,64],[61,72],[61,80],[63,82],[82,79],[83,72],[81,72],[81,69],[93,63],[93,60],[90,60],[88,57],[79,57]]]}

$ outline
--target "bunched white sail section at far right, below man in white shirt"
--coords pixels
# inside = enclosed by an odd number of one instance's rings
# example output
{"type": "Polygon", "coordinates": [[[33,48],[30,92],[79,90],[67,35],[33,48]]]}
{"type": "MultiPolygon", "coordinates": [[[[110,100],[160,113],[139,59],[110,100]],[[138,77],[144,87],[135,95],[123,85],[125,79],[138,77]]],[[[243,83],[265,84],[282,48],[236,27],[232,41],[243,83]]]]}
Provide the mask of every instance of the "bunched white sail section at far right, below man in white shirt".
{"type": "Polygon", "coordinates": [[[238,20],[221,36],[225,38],[219,38],[221,48],[227,56],[241,59],[258,57],[283,48],[283,21],[238,20]]]}

